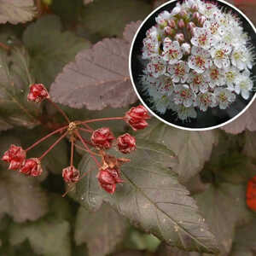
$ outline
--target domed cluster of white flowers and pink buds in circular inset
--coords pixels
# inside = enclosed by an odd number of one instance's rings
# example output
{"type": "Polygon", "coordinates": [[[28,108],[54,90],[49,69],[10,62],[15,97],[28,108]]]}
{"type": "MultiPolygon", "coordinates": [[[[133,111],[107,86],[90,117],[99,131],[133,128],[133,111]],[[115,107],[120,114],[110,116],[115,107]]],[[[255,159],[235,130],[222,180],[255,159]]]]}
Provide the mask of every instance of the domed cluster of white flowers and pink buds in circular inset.
{"type": "Polygon", "coordinates": [[[213,3],[186,0],[156,17],[143,39],[143,91],[156,111],[179,119],[225,109],[253,90],[254,49],[240,20],[213,3]]]}

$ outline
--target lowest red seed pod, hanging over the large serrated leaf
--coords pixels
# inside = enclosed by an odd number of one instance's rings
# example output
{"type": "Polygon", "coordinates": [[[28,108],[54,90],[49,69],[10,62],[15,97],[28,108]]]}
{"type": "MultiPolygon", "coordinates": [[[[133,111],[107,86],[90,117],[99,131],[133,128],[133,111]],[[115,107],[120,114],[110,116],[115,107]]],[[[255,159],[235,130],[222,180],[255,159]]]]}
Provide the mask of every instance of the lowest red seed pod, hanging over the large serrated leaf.
{"type": "Polygon", "coordinates": [[[98,181],[102,187],[105,189],[109,194],[113,194],[116,189],[117,183],[123,183],[124,181],[120,178],[119,169],[114,168],[106,168],[100,169],[100,172],[97,175],[98,181]]]}

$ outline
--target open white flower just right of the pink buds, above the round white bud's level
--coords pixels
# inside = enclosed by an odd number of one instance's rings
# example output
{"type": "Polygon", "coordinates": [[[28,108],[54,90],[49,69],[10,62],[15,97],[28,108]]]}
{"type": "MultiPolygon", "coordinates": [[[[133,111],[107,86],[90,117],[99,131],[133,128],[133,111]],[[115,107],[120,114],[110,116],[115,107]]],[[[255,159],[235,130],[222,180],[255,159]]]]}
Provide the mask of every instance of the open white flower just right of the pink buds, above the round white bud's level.
{"type": "Polygon", "coordinates": [[[193,32],[194,36],[191,38],[192,44],[203,49],[211,48],[213,44],[213,38],[212,33],[208,28],[195,27],[193,32]]]}

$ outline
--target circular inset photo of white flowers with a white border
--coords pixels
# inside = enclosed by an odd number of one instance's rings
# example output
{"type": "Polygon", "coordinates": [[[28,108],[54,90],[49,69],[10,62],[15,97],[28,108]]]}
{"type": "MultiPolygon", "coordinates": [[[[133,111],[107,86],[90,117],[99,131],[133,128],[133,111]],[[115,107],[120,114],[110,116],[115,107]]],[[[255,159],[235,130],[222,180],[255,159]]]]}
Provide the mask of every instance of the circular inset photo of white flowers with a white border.
{"type": "Polygon", "coordinates": [[[155,117],[185,130],[210,130],[255,98],[256,30],[224,1],[170,1],[143,21],[131,44],[137,96],[155,117]]]}

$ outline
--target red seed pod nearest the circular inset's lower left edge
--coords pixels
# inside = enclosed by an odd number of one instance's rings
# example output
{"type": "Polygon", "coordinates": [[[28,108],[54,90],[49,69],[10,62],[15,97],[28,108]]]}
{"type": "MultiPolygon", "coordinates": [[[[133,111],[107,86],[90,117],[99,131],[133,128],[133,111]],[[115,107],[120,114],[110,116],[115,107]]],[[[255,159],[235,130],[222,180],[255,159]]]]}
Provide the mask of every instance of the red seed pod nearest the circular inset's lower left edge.
{"type": "Polygon", "coordinates": [[[150,119],[150,117],[148,110],[143,105],[133,107],[125,113],[125,122],[131,125],[134,131],[142,130],[148,126],[145,119],[150,119]]]}

